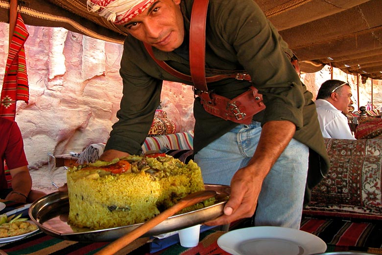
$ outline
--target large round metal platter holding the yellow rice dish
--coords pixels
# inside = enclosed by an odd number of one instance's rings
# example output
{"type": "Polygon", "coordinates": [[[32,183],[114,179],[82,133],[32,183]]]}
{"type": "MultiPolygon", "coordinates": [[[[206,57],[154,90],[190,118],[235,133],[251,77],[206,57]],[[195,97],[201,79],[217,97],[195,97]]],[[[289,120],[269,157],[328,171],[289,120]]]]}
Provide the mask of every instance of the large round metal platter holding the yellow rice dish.
{"type": "MultiPolygon", "coordinates": [[[[230,187],[225,185],[205,184],[208,190],[215,190],[215,204],[178,214],[167,218],[156,227],[150,229],[143,236],[159,235],[178,229],[188,228],[197,224],[215,219],[223,214],[224,204],[230,192],[230,187]]],[[[94,230],[89,228],[76,228],[68,224],[69,198],[68,193],[54,192],[35,201],[29,208],[30,219],[48,235],[71,241],[101,242],[114,241],[124,234],[138,228],[141,224],[124,227],[94,230]]]]}

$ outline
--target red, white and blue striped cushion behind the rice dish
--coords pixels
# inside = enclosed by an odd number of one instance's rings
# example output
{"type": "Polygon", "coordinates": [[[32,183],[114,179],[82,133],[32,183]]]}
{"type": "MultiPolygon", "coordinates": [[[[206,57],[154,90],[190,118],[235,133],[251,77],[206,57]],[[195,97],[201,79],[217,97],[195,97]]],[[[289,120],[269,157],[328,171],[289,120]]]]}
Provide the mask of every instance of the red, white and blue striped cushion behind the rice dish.
{"type": "Polygon", "coordinates": [[[148,151],[161,151],[162,149],[192,150],[193,130],[175,134],[146,137],[142,146],[143,153],[148,151]]]}

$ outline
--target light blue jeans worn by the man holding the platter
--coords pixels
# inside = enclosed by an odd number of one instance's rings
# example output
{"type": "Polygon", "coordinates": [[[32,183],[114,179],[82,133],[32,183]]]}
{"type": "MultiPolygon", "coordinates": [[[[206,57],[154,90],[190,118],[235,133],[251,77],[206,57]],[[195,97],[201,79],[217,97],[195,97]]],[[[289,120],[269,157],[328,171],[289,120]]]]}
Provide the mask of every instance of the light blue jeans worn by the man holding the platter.
{"type": "MultiPolygon", "coordinates": [[[[196,153],[204,183],[230,185],[235,172],[255,153],[261,131],[259,122],[239,125],[196,153]]],[[[308,156],[306,145],[290,141],[263,181],[255,226],[300,228],[308,156]]]]}

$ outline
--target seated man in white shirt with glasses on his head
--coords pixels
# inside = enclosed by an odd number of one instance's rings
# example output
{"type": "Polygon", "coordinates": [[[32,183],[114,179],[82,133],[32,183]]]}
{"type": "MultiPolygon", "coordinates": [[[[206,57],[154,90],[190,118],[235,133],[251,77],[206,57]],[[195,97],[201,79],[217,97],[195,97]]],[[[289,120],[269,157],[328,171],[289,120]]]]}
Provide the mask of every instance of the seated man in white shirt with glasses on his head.
{"type": "Polygon", "coordinates": [[[321,84],[315,104],[325,138],[356,139],[345,116],[353,104],[351,98],[352,89],[347,82],[331,79],[321,84]]]}

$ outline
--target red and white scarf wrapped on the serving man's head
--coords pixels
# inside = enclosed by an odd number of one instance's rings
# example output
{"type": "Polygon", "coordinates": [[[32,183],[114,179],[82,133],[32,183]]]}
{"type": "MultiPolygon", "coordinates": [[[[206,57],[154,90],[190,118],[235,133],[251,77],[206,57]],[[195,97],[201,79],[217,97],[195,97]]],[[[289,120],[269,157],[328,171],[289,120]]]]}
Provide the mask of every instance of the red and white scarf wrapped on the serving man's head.
{"type": "Polygon", "coordinates": [[[124,24],[141,14],[155,0],[87,0],[88,10],[97,12],[116,25],[124,24]]]}

